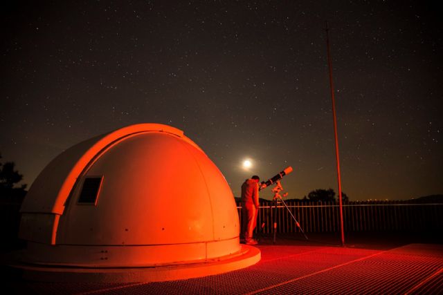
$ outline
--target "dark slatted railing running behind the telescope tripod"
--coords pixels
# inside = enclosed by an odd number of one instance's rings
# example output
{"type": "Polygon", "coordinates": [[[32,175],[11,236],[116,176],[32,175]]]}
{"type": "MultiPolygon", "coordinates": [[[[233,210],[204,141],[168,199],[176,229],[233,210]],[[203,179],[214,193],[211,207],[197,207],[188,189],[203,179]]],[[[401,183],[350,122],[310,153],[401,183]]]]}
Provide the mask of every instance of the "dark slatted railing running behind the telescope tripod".
{"type": "MultiPolygon", "coordinates": [[[[340,231],[338,203],[286,202],[305,232],[340,231]]],[[[241,203],[237,204],[240,224],[241,203]]],[[[299,232],[288,209],[278,204],[275,211],[278,233],[299,232]]],[[[262,203],[257,228],[264,234],[273,232],[273,203],[262,203]]],[[[401,201],[347,202],[343,204],[343,226],[351,231],[435,231],[443,227],[443,204],[414,204],[401,201]]]]}

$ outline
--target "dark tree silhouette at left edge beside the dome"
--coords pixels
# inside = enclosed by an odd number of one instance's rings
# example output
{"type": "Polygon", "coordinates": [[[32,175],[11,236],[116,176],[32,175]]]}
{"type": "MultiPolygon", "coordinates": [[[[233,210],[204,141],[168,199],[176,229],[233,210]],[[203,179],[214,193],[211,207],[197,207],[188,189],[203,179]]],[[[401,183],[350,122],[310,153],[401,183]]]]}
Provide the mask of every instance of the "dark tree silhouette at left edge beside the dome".
{"type": "MultiPolygon", "coordinates": [[[[1,159],[1,154],[0,154],[1,159]]],[[[26,194],[26,184],[16,187],[23,180],[23,175],[15,170],[14,162],[0,162],[0,196],[1,198],[23,198],[26,194]]]]}

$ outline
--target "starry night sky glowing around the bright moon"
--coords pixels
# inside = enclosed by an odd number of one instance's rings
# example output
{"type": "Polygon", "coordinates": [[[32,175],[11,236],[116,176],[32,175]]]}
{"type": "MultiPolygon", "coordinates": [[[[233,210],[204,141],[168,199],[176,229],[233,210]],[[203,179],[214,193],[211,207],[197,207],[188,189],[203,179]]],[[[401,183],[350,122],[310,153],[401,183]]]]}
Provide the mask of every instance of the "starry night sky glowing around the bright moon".
{"type": "Polygon", "coordinates": [[[10,2],[0,152],[28,185],[73,144],[151,122],[183,130],[235,196],[289,165],[288,198],[338,191],[327,20],[343,191],[443,193],[442,10],[431,2],[10,2]]]}

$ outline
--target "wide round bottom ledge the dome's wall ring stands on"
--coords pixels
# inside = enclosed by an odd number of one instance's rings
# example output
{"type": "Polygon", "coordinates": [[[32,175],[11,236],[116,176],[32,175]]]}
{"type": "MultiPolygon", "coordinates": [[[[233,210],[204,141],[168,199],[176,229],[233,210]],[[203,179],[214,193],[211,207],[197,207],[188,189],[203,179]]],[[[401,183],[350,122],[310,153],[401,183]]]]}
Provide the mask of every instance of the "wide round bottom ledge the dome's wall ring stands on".
{"type": "Polygon", "coordinates": [[[204,263],[188,265],[168,265],[159,267],[128,268],[81,268],[53,267],[29,264],[11,264],[21,269],[23,278],[46,282],[83,282],[83,283],[134,283],[183,280],[214,274],[223,274],[254,265],[260,261],[260,250],[241,245],[237,254],[206,260],[204,263]]]}

